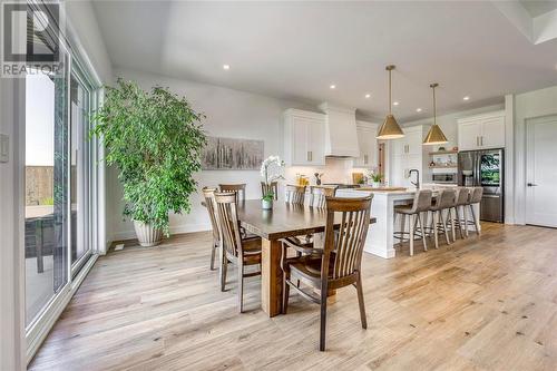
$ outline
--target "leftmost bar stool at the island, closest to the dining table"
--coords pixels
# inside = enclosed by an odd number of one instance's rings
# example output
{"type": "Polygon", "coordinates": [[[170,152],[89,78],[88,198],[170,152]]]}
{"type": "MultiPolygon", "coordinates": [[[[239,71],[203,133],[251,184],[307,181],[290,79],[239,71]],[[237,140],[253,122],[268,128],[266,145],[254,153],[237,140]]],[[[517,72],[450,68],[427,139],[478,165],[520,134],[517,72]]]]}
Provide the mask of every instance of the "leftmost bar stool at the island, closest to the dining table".
{"type": "Polygon", "coordinates": [[[394,232],[394,237],[400,241],[400,243],[404,242],[404,235],[408,233],[404,231],[404,224],[407,216],[409,217],[409,240],[410,240],[410,256],[414,254],[414,235],[417,234],[416,224],[420,224],[419,236],[421,236],[423,241],[423,250],[428,251],[428,245],[426,243],[426,228],[423,227],[423,215],[422,213],[429,212],[431,207],[431,191],[421,189],[418,191],[414,195],[414,199],[412,205],[398,205],[394,206],[394,222],[397,222],[397,216],[402,216],[402,231],[394,232]],[[400,236],[399,236],[400,235],[400,236]]]}

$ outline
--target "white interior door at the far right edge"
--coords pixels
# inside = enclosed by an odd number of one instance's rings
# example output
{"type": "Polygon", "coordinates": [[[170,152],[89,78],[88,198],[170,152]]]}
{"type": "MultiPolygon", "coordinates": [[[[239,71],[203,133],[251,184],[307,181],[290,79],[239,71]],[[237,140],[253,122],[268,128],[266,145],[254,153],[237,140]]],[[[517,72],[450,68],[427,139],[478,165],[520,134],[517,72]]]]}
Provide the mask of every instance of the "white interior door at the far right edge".
{"type": "Polygon", "coordinates": [[[557,116],[527,125],[526,223],[557,227],[557,116]]]}

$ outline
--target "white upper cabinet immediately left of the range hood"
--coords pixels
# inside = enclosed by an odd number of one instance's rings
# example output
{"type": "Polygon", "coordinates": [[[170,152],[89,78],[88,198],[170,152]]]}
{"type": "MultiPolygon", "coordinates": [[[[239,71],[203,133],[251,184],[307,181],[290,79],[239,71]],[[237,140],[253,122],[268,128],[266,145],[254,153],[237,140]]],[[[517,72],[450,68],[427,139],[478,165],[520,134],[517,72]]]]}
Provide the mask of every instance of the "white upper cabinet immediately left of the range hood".
{"type": "Polygon", "coordinates": [[[325,115],[300,109],[284,113],[284,160],[287,165],[325,165],[325,115]]]}

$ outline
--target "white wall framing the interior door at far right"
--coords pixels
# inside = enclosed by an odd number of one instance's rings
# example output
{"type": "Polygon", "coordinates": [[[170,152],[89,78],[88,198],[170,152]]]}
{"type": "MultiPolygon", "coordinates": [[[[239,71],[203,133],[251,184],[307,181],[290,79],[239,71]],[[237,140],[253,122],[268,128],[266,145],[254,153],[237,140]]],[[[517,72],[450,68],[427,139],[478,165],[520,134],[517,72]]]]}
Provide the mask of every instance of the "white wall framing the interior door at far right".
{"type": "Polygon", "coordinates": [[[557,115],[557,86],[515,96],[515,222],[526,223],[526,131],[529,119],[557,115]]]}

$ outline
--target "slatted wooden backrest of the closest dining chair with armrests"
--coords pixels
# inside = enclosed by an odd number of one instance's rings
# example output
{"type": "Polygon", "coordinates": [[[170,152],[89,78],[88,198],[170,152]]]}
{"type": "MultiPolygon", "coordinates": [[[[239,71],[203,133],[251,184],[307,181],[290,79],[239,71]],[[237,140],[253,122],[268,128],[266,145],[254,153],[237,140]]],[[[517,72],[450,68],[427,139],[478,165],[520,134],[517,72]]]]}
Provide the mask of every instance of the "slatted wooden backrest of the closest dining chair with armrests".
{"type": "Polygon", "coordinates": [[[370,224],[373,195],[364,198],[326,197],[328,223],[321,277],[329,276],[329,264],[333,262],[332,279],[352,276],[360,270],[363,246],[370,224]],[[334,214],[341,213],[341,224],[335,237],[334,214]]]}

